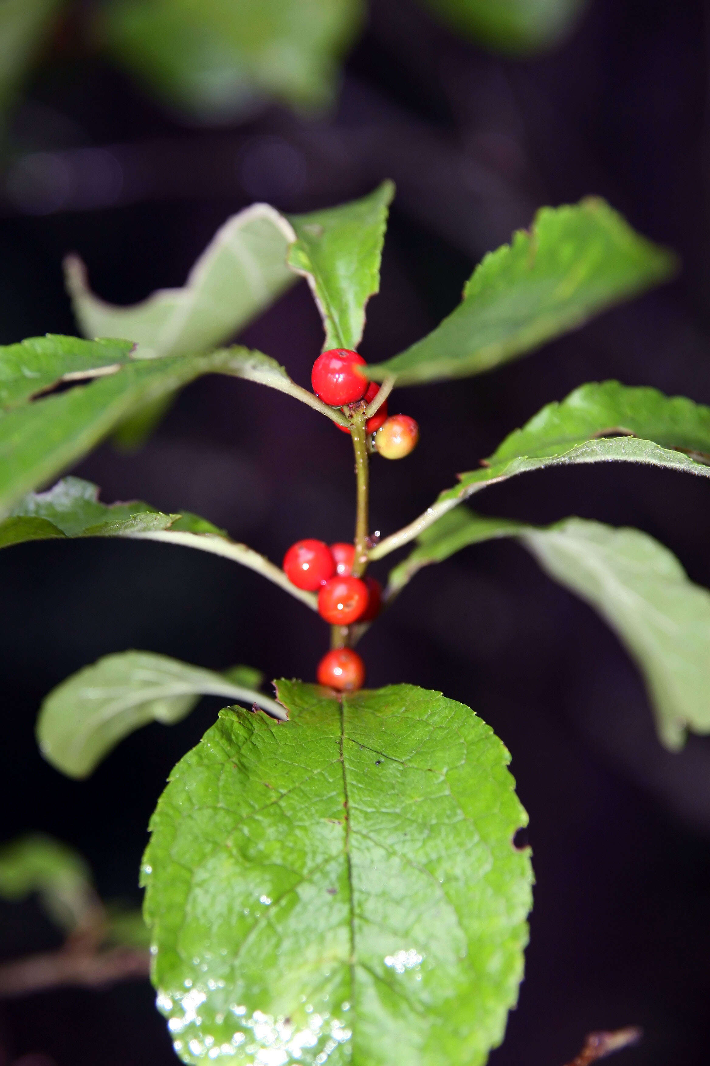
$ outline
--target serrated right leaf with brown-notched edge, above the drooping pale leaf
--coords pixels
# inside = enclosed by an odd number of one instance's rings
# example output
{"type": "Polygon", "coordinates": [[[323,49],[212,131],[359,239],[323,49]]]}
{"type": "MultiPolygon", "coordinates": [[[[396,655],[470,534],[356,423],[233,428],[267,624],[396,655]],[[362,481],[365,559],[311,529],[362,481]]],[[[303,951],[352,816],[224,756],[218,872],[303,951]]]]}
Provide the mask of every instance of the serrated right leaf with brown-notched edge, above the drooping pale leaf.
{"type": "Polygon", "coordinates": [[[577,463],[643,463],[710,477],[710,407],[658,389],[590,383],[543,407],[410,526],[369,553],[381,559],[418,536],[462,500],[518,473],[577,463]]]}

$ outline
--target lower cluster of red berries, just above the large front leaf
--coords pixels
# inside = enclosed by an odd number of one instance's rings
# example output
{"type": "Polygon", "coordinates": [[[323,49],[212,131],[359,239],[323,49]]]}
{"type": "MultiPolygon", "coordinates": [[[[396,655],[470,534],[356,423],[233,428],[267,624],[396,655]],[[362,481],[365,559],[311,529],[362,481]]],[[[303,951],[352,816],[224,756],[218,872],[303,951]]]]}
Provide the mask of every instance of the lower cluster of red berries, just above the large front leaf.
{"type": "MultiPolygon", "coordinates": [[[[324,540],[297,540],[283,558],[283,570],[297,588],[318,592],[318,614],[333,626],[371,621],[381,604],[382,588],[375,578],[352,575],[354,547],[324,540]]],[[[362,688],[365,665],[352,648],[334,648],[320,660],[320,684],[341,691],[362,688]]]]}

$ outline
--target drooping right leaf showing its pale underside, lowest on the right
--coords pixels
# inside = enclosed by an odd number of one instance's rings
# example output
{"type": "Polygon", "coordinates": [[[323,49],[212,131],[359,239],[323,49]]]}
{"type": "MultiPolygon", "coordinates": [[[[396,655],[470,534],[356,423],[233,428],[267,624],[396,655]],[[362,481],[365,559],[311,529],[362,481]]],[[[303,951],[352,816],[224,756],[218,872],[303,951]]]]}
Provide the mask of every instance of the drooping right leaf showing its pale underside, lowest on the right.
{"type": "Polygon", "coordinates": [[[516,537],[547,574],[581,596],[616,631],[646,681],[663,743],[686,729],[710,732],[710,592],[646,533],[567,518],[547,529],[460,507],[420,537],[390,575],[390,596],[414,574],[466,545],[516,537]]]}

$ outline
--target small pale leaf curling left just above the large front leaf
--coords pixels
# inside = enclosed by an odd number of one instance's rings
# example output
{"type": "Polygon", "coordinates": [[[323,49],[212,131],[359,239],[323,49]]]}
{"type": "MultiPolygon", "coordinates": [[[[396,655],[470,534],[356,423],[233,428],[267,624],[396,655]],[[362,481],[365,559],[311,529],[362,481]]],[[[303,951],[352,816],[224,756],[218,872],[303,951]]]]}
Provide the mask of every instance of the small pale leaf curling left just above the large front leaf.
{"type": "Polygon", "coordinates": [[[129,733],[150,722],[174,725],[207,695],[255,702],[284,716],[275,700],[222,674],[150,651],[123,651],[104,656],[50,692],[39,710],[37,741],[57,770],[87,777],[129,733]]]}

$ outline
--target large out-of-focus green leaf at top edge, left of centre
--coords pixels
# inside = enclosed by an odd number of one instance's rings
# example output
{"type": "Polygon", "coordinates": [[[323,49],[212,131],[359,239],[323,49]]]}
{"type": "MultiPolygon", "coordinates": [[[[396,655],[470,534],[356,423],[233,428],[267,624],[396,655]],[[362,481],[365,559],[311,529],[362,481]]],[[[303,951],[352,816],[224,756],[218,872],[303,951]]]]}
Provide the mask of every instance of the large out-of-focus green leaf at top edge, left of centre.
{"type": "Polygon", "coordinates": [[[361,0],[112,0],[101,31],[141,81],[198,119],[237,116],[253,97],[333,101],[361,0]]]}

